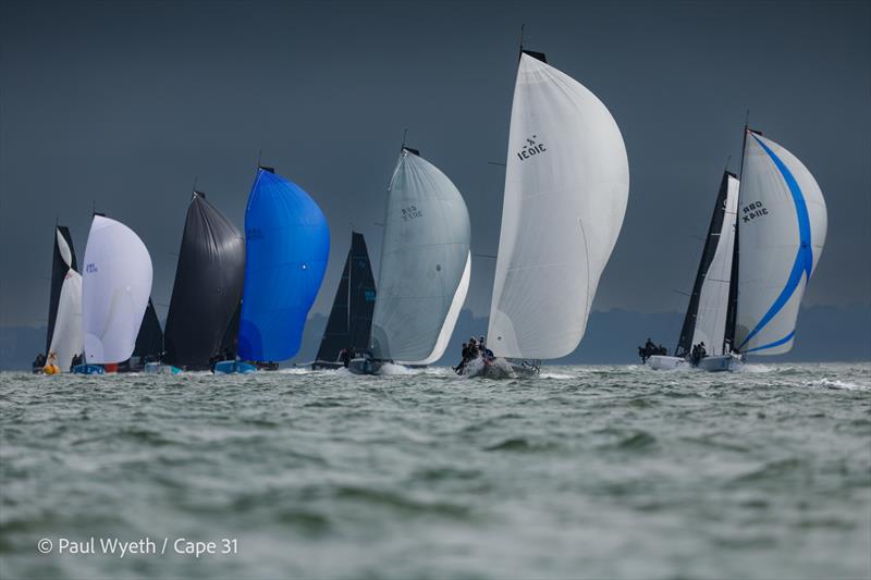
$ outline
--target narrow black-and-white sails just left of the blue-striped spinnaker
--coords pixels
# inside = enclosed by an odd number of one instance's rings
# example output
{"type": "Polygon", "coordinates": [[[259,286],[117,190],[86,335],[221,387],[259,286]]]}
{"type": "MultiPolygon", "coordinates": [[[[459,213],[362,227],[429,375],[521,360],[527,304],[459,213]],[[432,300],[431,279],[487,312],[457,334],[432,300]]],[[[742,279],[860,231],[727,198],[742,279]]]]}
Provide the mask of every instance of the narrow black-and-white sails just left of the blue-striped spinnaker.
{"type": "Polygon", "coordinates": [[[704,343],[709,355],[722,355],[726,331],[732,257],[735,246],[735,211],[738,206],[738,178],[723,174],[711,225],[704,239],[696,283],[680,329],[676,355],[691,351],[704,343]]]}

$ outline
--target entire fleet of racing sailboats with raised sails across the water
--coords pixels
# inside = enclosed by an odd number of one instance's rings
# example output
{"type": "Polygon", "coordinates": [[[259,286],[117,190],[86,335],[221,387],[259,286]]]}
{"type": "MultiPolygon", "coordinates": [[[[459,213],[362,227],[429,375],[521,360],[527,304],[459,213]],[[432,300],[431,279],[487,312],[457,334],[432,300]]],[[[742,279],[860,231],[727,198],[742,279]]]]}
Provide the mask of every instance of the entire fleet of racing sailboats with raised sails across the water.
{"type": "MultiPolygon", "coordinates": [[[[578,347],[628,192],[626,148],[605,104],[520,46],[487,341],[461,374],[535,375],[542,360],[578,347]]],[[[826,225],[810,171],[745,127],[740,171],[721,180],[677,348],[645,353],[646,363],[722,371],[787,353],[826,225]]],[[[316,370],[373,374],[444,355],[471,275],[469,214],[454,183],[405,144],[383,226],[377,284],[366,240],[352,232],[316,370]]],[[[151,258],[130,227],[95,213],[81,272],[69,229],[53,233],[48,357],[34,366],[46,373],[102,373],[132,356],[147,372],[274,369],[299,350],[330,251],[318,203],[272,168],[258,166],[244,237],[194,190],[164,332],[151,258]]]]}

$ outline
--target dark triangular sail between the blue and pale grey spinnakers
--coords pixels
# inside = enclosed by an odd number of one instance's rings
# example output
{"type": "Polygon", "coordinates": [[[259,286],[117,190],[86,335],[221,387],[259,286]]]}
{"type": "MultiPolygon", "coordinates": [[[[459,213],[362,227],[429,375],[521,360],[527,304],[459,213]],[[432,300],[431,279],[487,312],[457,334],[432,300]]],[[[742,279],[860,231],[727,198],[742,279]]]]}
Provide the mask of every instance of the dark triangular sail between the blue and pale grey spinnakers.
{"type": "Polygon", "coordinates": [[[343,348],[358,351],[369,348],[375,299],[375,277],[366,239],[363,234],[353,232],[317,360],[335,361],[343,348]]]}

